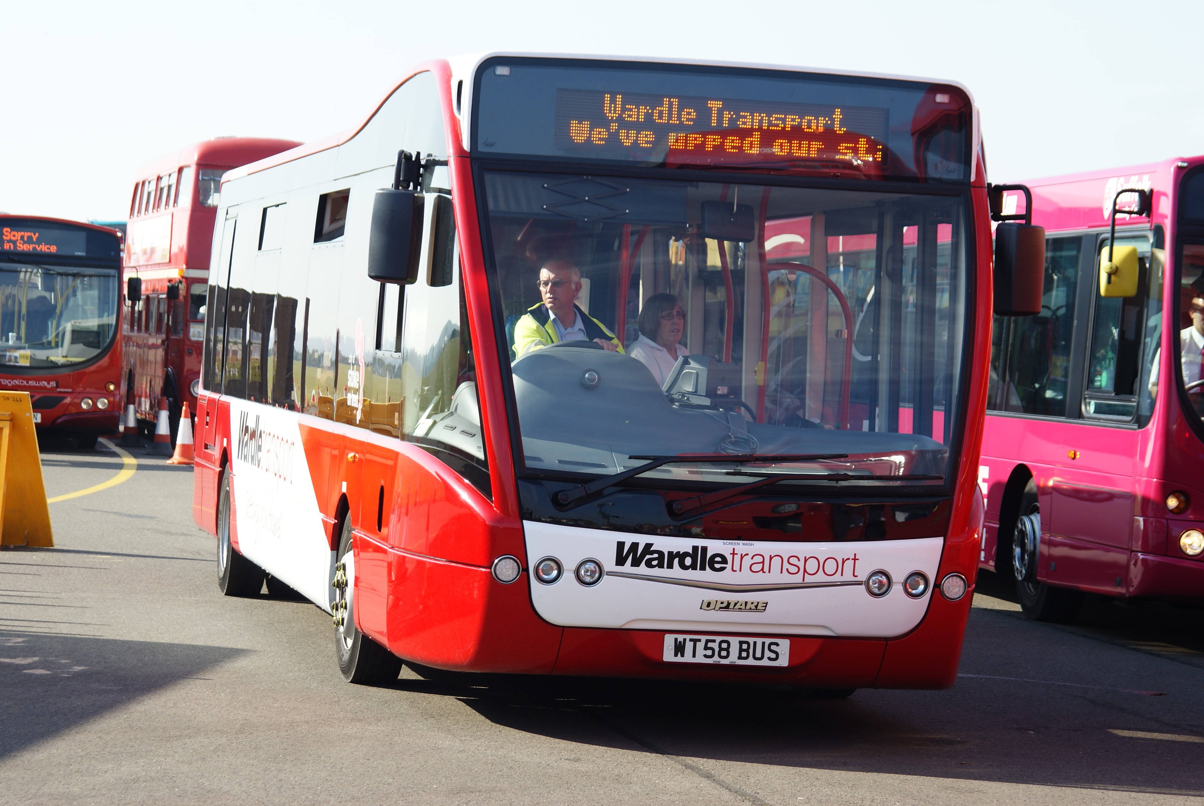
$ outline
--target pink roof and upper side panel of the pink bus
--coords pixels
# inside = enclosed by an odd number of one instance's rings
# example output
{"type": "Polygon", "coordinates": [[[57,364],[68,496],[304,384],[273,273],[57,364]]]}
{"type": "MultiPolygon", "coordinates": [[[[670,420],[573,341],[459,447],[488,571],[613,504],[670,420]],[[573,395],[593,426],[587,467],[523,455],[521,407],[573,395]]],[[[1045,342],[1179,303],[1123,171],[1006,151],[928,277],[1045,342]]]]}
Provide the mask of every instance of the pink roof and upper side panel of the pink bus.
{"type": "MultiPolygon", "coordinates": [[[[1029,180],[1023,184],[1033,192],[1034,224],[1050,231],[1088,229],[1110,224],[1112,201],[1120,190],[1127,188],[1152,190],[1153,217],[1165,219],[1170,216],[1170,192],[1176,181],[1176,171],[1181,173],[1200,164],[1204,164],[1204,155],[1173,157],[1158,163],[1029,180]]],[[[1007,195],[1020,196],[1017,193],[1007,195]]],[[[1010,204],[1013,202],[1008,202],[1009,207],[1010,204]]],[[[1122,196],[1122,211],[1126,204],[1122,196]]],[[[1117,223],[1137,224],[1146,220],[1123,216],[1117,223]]]]}

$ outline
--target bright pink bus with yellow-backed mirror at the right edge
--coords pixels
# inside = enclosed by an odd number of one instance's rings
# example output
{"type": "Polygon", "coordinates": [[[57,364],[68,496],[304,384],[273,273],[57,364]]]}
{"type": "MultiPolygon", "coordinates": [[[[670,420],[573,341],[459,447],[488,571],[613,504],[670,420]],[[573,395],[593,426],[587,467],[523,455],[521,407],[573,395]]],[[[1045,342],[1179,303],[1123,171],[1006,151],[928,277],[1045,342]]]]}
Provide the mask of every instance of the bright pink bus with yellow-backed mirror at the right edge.
{"type": "Polygon", "coordinates": [[[1204,599],[1204,157],[1027,184],[1044,298],[995,322],[981,566],[1039,620],[1204,599]]]}

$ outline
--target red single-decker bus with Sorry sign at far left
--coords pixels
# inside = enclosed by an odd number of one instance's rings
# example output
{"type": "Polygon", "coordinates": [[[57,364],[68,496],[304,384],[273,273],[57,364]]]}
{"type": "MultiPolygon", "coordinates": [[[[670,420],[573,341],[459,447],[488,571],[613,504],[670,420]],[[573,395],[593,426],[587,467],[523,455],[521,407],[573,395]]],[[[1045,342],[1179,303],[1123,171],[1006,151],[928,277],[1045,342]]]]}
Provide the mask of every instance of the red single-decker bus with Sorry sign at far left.
{"type": "Polygon", "coordinates": [[[122,235],[8,214],[0,235],[0,389],[30,393],[39,430],[90,449],[120,418],[122,235]]]}

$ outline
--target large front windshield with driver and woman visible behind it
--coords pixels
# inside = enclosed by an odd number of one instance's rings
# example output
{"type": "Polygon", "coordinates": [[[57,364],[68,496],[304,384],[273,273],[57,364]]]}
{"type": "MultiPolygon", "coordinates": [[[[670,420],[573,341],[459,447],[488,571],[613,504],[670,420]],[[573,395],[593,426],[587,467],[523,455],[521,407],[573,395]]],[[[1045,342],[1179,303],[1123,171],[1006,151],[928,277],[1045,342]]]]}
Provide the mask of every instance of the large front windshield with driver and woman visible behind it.
{"type": "MultiPolygon", "coordinates": [[[[960,193],[489,171],[519,464],[648,478],[950,475],[970,254],[960,193]],[[824,454],[825,459],[789,457],[824,454]]],[[[551,476],[549,476],[549,473],[551,476]]]]}

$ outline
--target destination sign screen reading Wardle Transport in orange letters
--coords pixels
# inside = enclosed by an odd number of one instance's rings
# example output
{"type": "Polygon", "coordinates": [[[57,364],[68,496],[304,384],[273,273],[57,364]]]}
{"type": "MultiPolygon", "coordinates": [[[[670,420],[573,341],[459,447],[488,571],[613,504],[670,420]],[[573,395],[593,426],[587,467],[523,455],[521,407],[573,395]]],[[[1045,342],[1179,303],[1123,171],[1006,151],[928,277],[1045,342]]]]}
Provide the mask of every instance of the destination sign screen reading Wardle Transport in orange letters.
{"type": "Polygon", "coordinates": [[[964,182],[970,119],[949,84],[497,57],[472,127],[476,155],[964,182]]]}

